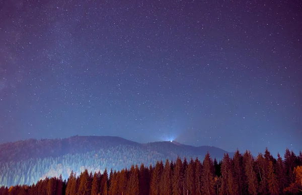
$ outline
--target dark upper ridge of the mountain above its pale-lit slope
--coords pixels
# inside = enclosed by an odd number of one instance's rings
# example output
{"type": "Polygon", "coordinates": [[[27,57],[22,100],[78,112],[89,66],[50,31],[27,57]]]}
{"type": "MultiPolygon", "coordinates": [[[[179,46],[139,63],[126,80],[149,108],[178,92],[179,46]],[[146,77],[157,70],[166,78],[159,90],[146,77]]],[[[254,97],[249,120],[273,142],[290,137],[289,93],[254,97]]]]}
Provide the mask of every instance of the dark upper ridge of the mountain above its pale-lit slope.
{"type": "MultiPolygon", "coordinates": [[[[194,147],[173,142],[154,142],[139,144],[120,137],[112,136],[73,136],[64,139],[29,139],[0,145],[1,161],[20,161],[30,158],[57,157],[65,154],[81,154],[99,149],[108,149],[119,145],[128,145],[149,149],[163,155],[184,157],[204,156],[207,152],[213,158],[222,159],[224,153],[233,156],[234,153],[210,146],[194,147]]],[[[189,157],[187,157],[189,158],[189,157]]]]}

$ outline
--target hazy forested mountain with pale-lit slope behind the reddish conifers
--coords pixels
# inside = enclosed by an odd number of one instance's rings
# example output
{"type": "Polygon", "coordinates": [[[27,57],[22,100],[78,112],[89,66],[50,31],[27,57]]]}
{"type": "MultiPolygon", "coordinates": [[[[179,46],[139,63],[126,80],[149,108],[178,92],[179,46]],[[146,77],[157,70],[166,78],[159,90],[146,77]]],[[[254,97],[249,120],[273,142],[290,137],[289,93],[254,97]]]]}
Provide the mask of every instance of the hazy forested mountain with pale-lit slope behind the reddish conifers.
{"type": "Polygon", "coordinates": [[[177,157],[203,160],[209,152],[218,161],[224,153],[209,146],[188,146],[177,142],[140,144],[119,137],[73,136],[65,139],[25,140],[0,145],[0,186],[32,184],[45,177],[68,178],[76,173],[121,170],[132,164],[155,165],[177,157]]]}

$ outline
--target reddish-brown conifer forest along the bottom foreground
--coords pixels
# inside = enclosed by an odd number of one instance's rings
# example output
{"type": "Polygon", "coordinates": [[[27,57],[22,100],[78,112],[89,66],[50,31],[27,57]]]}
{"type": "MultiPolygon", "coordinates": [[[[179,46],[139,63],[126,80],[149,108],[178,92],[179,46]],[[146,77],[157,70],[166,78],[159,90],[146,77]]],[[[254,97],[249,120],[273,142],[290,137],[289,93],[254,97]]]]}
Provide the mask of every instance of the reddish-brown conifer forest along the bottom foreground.
{"type": "Polygon", "coordinates": [[[120,171],[71,171],[67,180],[46,177],[32,185],[2,186],[0,194],[302,194],[302,153],[286,149],[283,159],[279,154],[275,159],[268,149],[257,157],[236,151],[219,162],[207,153],[202,161],[177,158],[120,171]]]}

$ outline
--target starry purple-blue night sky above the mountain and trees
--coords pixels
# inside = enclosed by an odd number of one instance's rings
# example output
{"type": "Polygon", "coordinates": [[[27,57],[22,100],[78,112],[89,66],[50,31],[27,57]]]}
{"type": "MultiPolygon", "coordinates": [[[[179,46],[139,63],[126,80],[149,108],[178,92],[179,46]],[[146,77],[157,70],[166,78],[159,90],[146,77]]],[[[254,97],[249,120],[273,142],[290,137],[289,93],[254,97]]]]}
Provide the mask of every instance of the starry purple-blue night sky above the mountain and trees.
{"type": "Polygon", "coordinates": [[[0,2],[0,143],[302,149],[301,1],[0,2]]]}

